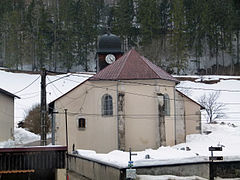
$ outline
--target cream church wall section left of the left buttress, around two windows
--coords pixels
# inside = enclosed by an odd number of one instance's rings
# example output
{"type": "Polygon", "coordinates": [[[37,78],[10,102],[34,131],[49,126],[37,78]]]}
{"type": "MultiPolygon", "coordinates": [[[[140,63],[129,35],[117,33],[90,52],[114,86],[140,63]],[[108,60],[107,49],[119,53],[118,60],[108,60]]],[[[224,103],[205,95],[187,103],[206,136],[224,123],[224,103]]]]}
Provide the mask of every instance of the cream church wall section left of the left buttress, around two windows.
{"type": "Polygon", "coordinates": [[[85,82],[66,96],[56,101],[56,143],[66,144],[64,109],[68,109],[69,150],[72,145],[78,149],[92,149],[97,152],[109,152],[117,149],[116,109],[113,116],[101,116],[101,98],[108,93],[116,105],[116,86],[112,82],[94,84],[85,82]],[[111,90],[114,89],[114,90],[111,90]],[[83,117],[87,121],[85,129],[78,129],[77,119],[83,117]]]}

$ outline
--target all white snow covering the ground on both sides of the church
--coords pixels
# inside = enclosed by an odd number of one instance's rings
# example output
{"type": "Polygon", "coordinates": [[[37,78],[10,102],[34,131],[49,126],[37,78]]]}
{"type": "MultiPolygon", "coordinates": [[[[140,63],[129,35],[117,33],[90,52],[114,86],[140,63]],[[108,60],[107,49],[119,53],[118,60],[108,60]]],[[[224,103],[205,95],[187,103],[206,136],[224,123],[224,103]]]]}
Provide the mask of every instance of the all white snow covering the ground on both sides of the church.
{"type": "MultiPolygon", "coordinates": [[[[47,102],[51,102],[79,83],[87,79],[89,74],[64,74],[47,76],[47,102]]],[[[178,89],[198,101],[205,93],[220,90],[218,102],[225,104],[224,119],[217,120],[218,124],[205,124],[203,117],[203,131],[206,134],[193,134],[187,137],[187,142],[173,147],[160,147],[158,150],[147,149],[136,152],[133,156],[134,166],[172,164],[176,162],[207,161],[209,146],[222,146],[224,160],[240,159],[240,77],[229,76],[201,76],[195,82],[181,81],[178,89]],[[221,80],[216,84],[204,84],[201,80],[221,80]],[[224,122],[221,124],[221,122],[224,122]],[[188,148],[187,148],[188,147],[188,148]],[[186,149],[189,149],[187,151],[186,149]],[[145,159],[149,155],[150,159],[145,159]]],[[[0,70],[0,88],[16,94],[21,99],[15,99],[15,127],[17,122],[24,119],[26,112],[40,102],[40,75],[11,73],[0,70]]],[[[15,141],[1,142],[0,147],[11,147],[38,140],[39,136],[23,129],[15,128],[15,141]]],[[[127,167],[129,153],[113,151],[107,154],[97,154],[94,151],[78,150],[81,156],[95,159],[119,167],[127,167]]]]}

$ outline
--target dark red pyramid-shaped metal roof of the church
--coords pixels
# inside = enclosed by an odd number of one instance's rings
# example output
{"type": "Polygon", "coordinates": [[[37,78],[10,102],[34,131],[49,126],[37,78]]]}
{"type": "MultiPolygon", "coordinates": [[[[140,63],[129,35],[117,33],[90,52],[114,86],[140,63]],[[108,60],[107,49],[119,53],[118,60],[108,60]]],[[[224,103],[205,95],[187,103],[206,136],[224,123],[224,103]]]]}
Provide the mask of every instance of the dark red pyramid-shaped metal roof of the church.
{"type": "Polygon", "coordinates": [[[90,78],[90,80],[144,79],[163,79],[178,82],[176,78],[141,56],[135,49],[131,49],[117,61],[90,78]]]}

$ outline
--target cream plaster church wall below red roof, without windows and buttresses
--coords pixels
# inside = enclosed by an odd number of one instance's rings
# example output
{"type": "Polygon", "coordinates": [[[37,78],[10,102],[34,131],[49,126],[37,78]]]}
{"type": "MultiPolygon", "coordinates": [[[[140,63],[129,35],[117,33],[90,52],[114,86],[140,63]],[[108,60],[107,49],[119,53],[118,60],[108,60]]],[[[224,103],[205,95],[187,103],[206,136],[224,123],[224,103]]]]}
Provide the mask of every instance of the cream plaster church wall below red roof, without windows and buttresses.
{"type": "Polygon", "coordinates": [[[56,144],[65,145],[65,115],[68,109],[69,150],[78,149],[109,152],[118,149],[117,92],[125,94],[125,145],[128,150],[158,148],[157,93],[170,98],[170,116],[165,116],[167,145],[175,143],[174,124],[175,83],[163,80],[146,81],[86,81],[55,102],[56,144]],[[144,85],[145,84],[145,85],[144,85]],[[109,94],[113,99],[113,116],[101,115],[101,98],[109,94]],[[77,119],[87,120],[85,129],[78,129],[77,119]]]}

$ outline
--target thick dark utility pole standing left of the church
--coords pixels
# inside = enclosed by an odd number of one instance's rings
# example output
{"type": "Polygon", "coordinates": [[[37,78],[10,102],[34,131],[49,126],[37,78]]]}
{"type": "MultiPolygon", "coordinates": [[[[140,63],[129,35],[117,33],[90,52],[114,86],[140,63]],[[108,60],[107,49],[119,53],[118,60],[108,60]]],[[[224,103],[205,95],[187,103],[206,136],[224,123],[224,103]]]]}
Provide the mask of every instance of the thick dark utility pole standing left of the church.
{"type": "Polygon", "coordinates": [[[41,69],[41,146],[47,145],[46,121],[47,121],[47,103],[46,103],[46,69],[41,69]]]}

